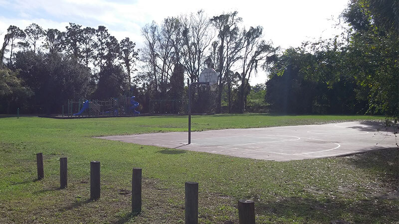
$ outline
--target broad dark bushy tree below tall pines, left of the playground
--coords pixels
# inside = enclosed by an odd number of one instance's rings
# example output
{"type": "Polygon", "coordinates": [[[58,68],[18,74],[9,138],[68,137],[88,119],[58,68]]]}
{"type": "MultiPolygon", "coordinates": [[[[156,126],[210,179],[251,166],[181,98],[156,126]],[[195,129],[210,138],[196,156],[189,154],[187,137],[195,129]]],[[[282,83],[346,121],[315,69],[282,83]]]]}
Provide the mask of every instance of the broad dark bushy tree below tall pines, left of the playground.
{"type": "Polygon", "coordinates": [[[68,99],[87,97],[90,70],[73,56],[19,51],[14,67],[34,93],[31,112],[59,112],[68,99]]]}

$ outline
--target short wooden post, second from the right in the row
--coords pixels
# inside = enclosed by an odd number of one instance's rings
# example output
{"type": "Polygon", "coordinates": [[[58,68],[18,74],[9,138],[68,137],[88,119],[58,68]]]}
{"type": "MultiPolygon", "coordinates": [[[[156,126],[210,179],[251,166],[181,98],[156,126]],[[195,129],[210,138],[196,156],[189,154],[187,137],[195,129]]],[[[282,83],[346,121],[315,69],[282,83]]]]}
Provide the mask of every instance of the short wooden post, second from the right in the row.
{"type": "Polygon", "coordinates": [[[186,224],[198,224],[198,183],[186,182],[186,224]]]}

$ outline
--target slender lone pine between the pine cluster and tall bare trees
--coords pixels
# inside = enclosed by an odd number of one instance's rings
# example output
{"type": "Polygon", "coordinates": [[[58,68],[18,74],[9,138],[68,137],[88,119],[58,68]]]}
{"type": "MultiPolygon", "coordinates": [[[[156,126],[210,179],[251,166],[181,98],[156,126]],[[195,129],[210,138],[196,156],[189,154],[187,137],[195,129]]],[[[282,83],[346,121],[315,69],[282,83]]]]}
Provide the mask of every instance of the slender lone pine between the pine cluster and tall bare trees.
{"type": "Polygon", "coordinates": [[[127,92],[131,93],[131,87],[132,87],[132,71],[134,71],[134,66],[138,60],[138,51],[135,50],[136,43],[133,43],[129,37],[126,37],[123,39],[120,43],[121,46],[121,51],[120,51],[120,59],[122,60],[122,64],[126,68],[126,73],[128,76],[128,88],[127,92]]]}

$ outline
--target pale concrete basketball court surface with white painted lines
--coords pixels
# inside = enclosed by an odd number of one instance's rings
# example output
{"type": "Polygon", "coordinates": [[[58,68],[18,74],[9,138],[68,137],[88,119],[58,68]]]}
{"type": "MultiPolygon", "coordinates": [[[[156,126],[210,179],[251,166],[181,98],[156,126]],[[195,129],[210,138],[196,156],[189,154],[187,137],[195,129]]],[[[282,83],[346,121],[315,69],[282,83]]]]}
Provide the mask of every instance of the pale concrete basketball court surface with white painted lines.
{"type": "Polygon", "coordinates": [[[190,145],[188,132],[98,138],[275,161],[340,156],[397,143],[393,129],[375,121],[192,132],[190,145]]]}

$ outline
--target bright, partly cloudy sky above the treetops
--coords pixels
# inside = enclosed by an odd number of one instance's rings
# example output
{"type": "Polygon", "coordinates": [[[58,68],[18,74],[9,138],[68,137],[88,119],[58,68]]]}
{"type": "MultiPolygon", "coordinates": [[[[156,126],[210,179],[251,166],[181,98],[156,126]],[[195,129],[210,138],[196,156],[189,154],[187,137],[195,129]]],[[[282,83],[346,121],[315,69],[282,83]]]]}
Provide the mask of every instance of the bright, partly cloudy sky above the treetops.
{"type": "MultiPolygon", "coordinates": [[[[129,37],[140,48],[145,24],[203,9],[208,16],[238,11],[245,27],[263,26],[264,38],[286,49],[341,33],[335,24],[347,4],[348,0],[0,0],[0,42],[9,25],[24,29],[34,22],[64,31],[73,22],[104,25],[118,40],[129,37]]],[[[265,80],[266,74],[259,72],[250,83],[265,80]]]]}

